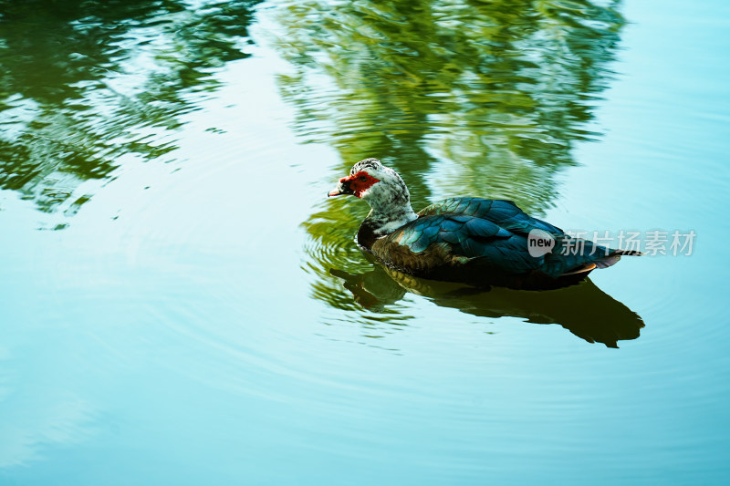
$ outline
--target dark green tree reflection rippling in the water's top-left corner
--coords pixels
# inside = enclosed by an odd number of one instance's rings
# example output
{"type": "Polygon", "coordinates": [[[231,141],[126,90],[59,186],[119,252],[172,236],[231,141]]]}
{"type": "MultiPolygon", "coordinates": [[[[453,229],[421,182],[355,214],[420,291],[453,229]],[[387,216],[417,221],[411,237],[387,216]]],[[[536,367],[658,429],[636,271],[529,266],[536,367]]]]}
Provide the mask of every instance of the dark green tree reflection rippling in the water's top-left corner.
{"type": "Polygon", "coordinates": [[[125,160],[170,161],[256,0],[0,0],[0,189],[78,212],[125,160]]]}

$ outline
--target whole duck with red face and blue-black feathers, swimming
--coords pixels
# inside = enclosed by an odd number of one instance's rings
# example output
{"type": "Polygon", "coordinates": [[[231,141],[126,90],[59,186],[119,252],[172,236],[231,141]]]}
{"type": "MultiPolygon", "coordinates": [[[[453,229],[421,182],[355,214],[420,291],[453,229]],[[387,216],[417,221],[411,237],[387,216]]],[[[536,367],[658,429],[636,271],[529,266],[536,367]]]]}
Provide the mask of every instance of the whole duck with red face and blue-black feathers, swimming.
{"type": "Polygon", "coordinates": [[[507,200],[453,197],[414,212],[398,172],[373,158],[355,163],[328,192],[340,195],[370,204],[355,238],[360,248],[419,278],[549,290],[579,284],[621,256],[643,254],[574,238],[507,200]]]}

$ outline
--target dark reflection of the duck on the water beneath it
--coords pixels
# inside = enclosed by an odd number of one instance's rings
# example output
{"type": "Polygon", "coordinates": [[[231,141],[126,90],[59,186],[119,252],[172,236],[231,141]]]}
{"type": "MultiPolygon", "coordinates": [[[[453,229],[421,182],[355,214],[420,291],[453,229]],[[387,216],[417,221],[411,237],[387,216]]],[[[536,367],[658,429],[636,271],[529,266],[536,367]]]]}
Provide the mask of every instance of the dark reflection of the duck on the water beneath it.
{"type": "Polygon", "coordinates": [[[588,278],[577,285],[550,291],[476,288],[402,274],[381,264],[362,274],[331,268],[355,301],[378,311],[400,301],[407,292],[436,305],[480,317],[514,316],[535,324],[559,324],[589,343],[619,347],[618,341],[639,337],[641,316],[600,290],[588,278]]]}

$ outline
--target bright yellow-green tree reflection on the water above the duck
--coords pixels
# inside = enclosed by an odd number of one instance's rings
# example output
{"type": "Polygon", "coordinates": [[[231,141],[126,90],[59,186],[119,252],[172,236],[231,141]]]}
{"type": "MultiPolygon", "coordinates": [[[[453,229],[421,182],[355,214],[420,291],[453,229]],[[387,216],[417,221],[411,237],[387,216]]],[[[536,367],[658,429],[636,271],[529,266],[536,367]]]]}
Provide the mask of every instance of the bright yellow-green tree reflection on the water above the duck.
{"type": "Polygon", "coordinates": [[[416,202],[436,160],[452,160],[466,191],[531,209],[552,175],[592,134],[623,20],[617,2],[512,0],[289,6],[281,52],[296,67],[282,91],[297,131],[331,144],[348,168],[379,157],[406,175],[416,202]],[[528,189],[529,191],[525,191],[528,189]]]}

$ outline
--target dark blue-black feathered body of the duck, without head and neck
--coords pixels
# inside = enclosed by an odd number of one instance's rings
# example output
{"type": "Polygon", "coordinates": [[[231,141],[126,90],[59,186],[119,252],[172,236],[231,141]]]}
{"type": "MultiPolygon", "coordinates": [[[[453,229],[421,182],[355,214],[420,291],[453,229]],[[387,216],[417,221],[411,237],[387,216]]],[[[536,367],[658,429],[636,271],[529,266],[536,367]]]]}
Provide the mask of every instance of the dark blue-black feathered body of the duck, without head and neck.
{"type": "Polygon", "coordinates": [[[532,218],[511,201],[452,198],[424,208],[418,216],[376,240],[370,251],[384,264],[423,278],[555,288],[578,282],[594,263],[618,260],[612,256],[615,251],[590,242],[583,242],[582,253],[567,252],[569,237],[562,230],[532,218]],[[551,235],[556,241],[552,251],[530,254],[527,235],[532,230],[551,235]]]}

